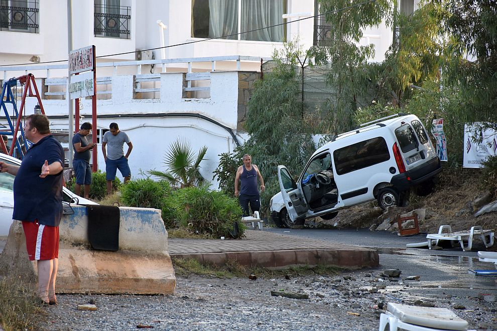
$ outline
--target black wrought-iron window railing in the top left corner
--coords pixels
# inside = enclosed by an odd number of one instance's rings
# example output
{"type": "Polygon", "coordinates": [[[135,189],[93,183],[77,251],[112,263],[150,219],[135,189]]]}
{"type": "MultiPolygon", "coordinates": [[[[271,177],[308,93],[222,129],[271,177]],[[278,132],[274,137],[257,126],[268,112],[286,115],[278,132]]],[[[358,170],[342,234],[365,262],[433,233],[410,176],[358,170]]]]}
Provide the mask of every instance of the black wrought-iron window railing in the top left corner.
{"type": "Polygon", "coordinates": [[[39,11],[38,0],[2,0],[0,31],[38,33],[39,11]]]}

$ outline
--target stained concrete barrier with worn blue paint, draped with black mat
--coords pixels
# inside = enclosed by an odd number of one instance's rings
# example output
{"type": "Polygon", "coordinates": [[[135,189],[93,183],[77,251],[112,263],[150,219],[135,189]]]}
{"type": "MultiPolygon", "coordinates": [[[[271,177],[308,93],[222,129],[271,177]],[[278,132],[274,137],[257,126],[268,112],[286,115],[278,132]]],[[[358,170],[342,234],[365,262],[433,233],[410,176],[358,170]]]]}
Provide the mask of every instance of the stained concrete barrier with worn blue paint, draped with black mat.
{"type": "MultiPolygon", "coordinates": [[[[86,207],[72,207],[74,214],[64,215],[59,226],[58,293],[174,292],[176,277],[160,210],[120,207],[119,250],[108,252],[90,249],[86,207]]],[[[28,260],[21,222],[10,228],[0,272],[36,283],[36,263],[28,260]]]]}

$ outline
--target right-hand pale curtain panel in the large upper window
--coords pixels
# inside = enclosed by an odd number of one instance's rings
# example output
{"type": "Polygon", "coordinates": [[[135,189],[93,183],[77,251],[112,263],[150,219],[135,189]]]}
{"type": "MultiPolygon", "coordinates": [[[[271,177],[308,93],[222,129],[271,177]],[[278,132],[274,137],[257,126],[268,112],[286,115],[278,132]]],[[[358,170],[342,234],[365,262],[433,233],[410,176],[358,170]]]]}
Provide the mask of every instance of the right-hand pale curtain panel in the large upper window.
{"type": "MultiPolygon", "coordinates": [[[[285,0],[241,0],[241,32],[283,23],[285,0]]],[[[212,14],[211,14],[212,15],[212,14]]],[[[285,40],[283,25],[241,35],[241,40],[285,40]]]]}

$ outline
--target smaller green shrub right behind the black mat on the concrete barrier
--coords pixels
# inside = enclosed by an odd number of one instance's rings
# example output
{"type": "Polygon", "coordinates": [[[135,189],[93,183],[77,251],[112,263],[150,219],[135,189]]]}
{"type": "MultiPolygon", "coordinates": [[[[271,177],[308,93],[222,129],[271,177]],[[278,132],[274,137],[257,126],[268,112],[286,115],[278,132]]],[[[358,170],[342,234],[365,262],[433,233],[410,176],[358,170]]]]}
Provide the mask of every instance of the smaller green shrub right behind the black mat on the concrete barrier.
{"type": "Polygon", "coordinates": [[[147,178],[129,181],[119,191],[121,201],[126,206],[162,210],[164,197],[171,190],[166,182],[155,182],[147,178]]]}

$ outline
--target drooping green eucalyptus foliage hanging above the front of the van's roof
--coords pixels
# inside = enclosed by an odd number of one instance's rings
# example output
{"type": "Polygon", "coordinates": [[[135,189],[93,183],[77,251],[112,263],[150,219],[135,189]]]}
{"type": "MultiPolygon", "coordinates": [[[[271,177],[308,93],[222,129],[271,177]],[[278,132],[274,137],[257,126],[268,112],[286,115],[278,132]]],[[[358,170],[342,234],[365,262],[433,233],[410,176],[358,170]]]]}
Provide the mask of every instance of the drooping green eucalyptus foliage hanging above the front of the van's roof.
{"type": "Polygon", "coordinates": [[[327,63],[327,84],[335,90],[329,102],[334,132],[349,129],[351,116],[361,106],[368,90],[374,86],[368,60],[374,57],[374,45],[359,46],[363,31],[383,21],[391,23],[393,9],[388,0],[319,0],[320,13],[330,26],[327,42],[311,50],[316,63],[327,63]]]}

